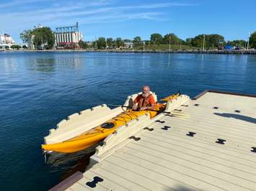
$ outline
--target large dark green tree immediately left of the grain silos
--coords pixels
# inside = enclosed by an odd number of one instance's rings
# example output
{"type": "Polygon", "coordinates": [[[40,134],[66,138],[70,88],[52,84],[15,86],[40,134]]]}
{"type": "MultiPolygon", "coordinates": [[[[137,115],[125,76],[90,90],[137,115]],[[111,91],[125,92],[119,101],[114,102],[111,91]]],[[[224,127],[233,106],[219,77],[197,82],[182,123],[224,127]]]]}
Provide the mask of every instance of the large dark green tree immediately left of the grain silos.
{"type": "Polygon", "coordinates": [[[54,34],[50,27],[36,28],[32,31],[33,34],[33,44],[38,49],[43,47],[43,49],[51,49],[54,45],[54,34]]]}

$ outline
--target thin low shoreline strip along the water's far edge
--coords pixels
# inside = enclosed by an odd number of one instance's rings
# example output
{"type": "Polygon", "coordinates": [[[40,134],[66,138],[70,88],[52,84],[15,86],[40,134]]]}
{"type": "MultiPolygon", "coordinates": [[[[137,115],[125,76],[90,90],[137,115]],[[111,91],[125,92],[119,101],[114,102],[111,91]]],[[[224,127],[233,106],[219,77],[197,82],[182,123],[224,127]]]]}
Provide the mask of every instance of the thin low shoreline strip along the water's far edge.
{"type": "Polygon", "coordinates": [[[120,53],[185,53],[185,54],[222,54],[256,55],[256,50],[1,50],[0,52],[120,52],[120,53]]]}

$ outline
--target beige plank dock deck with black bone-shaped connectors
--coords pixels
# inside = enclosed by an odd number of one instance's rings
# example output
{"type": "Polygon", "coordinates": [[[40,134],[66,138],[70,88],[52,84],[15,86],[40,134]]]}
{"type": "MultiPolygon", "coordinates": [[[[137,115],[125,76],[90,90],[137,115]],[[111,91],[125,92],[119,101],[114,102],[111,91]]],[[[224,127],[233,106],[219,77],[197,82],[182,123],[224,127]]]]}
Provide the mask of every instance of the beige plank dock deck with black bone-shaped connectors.
{"type": "Polygon", "coordinates": [[[256,190],[256,98],[206,92],[177,110],[190,118],[163,115],[67,190],[256,190]]]}

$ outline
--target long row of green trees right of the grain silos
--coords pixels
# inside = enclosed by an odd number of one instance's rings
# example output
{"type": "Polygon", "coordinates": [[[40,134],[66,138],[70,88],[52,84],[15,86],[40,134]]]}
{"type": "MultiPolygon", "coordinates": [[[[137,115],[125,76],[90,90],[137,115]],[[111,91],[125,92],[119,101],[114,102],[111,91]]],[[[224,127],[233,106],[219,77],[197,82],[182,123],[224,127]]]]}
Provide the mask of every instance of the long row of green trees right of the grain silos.
{"type": "MultiPolygon", "coordinates": [[[[120,48],[125,45],[125,42],[133,42],[133,47],[142,47],[144,45],[187,45],[190,47],[214,49],[221,48],[225,45],[231,45],[233,47],[246,47],[247,41],[244,39],[236,39],[233,41],[226,41],[224,37],[220,34],[199,34],[192,38],[187,38],[185,40],[180,39],[174,33],[162,34],[154,33],[151,34],[149,40],[142,40],[141,37],[136,36],[133,39],[121,39],[120,37],[116,39],[99,37],[92,42],[91,47],[95,49],[106,49],[106,48],[120,48]]],[[[88,48],[87,42],[79,42],[80,47],[88,48]]],[[[256,48],[256,32],[252,33],[250,36],[250,47],[256,48]]]]}

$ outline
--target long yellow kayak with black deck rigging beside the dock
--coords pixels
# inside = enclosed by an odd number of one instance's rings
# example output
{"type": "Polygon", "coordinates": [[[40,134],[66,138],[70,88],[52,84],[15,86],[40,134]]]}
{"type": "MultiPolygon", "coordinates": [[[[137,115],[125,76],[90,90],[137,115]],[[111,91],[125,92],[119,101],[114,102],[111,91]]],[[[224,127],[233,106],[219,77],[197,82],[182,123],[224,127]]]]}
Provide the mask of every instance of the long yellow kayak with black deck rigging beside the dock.
{"type": "MultiPolygon", "coordinates": [[[[169,98],[168,100],[172,100],[177,98],[179,95],[180,93],[177,93],[175,95],[170,95],[167,98],[169,98]]],[[[111,118],[100,126],[96,126],[89,131],[85,131],[79,136],[75,136],[74,138],[56,144],[43,144],[42,149],[45,151],[63,153],[79,152],[102,141],[109,134],[112,134],[115,129],[127,124],[128,121],[132,121],[138,116],[143,116],[145,113],[149,113],[150,117],[153,118],[157,114],[161,113],[161,111],[164,111],[165,106],[166,103],[156,103],[154,111],[132,111],[131,109],[128,109],[127,111],[120,113],[118,116],[111,118]]]]}

